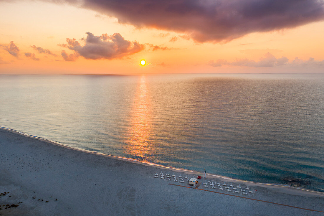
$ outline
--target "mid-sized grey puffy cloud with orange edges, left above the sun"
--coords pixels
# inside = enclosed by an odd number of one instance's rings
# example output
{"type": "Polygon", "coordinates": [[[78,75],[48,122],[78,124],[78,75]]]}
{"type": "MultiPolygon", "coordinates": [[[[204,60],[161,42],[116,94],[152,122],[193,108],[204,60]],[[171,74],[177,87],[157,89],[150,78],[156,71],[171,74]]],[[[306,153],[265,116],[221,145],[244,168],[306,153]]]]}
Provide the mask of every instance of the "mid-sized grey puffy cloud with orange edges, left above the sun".
{"type": "Polygon", "coordinates": [[[125,40],[119,33],[102,34],[101,36],[95,36],[91,32],[86,32],[86,34],[87,38],[83,39],[84,44],[79,43],[76,39],[69,38],[66,39],[67,44],[58,44],[75,51],[73,55],[62,52],[64,60],[75,61],[79,55],[86,59],[121,58],[138,53],[145,48],[144,44],[125,40]]]}

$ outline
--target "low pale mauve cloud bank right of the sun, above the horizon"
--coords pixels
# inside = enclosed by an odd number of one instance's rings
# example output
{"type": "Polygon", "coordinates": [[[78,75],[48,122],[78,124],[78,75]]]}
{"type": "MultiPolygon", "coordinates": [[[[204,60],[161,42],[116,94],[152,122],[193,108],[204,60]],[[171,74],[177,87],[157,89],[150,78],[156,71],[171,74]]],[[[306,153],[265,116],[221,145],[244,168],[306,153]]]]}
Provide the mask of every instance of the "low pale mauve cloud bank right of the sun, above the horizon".
{"type": "Polygon", "coordinates": [[[276,58],[271,53],[264,54],[259,61],[250,60],[248,58],[236,59],[233,62],[228,62],[224,59],[218,59],[216,61],[212,60],[208,65],[212,67],[220,67],[222,65],[232,65],[232,66],[247,66],[247,67],[273,67],[284,65],[288,62],[287,57],[276,58]]]}

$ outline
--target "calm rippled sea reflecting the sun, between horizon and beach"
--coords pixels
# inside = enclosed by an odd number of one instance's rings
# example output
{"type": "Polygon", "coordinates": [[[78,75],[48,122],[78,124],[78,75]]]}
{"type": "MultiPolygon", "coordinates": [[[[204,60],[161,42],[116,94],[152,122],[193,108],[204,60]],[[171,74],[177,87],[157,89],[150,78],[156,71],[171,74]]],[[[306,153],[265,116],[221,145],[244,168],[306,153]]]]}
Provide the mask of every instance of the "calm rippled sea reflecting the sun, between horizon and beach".
{"type": "Polygon", "coordinates": [[[0,126],[68,146],[324,191],[324,75],[0,75],[0,126]]]}

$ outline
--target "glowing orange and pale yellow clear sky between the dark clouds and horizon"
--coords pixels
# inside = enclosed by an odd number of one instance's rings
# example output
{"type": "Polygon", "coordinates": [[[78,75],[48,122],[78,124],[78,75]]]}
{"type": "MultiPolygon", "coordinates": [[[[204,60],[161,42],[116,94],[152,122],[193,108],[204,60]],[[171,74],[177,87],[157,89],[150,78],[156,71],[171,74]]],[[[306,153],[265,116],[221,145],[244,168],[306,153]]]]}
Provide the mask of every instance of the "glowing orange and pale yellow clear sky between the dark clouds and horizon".
{"type": "MultiPolygon", "coordinates": [[[[0,1],[0,73],[324,72],[324,21],[268,32],[251,32],[229,42],[197,42],[183,31],[120,24],[117,18],[99,12],[43,1],[0,1]],[[113,48],[116,55],[91,55],[95,59],[90,59],[86,52],[92,47],[86,47],[86,41],[81,40],[87,37],[85,32],[91,32],[94,36],[119,33],[124,41],[130,42],[129,49],[135,41],[143,48],[134,53],[120,51],[122,47],[118,51],[113,48]],[[182,38],[184,35],[189,38],[182,38]],[[172,41],[173,37],[177,40],[172,41]],[[67,44],[67,38],[75,38],[80,47],[70,46],[69,49],[58,45],[67,44]],[[8,51],[11,41],[19,49],[17,56],[8,51]],[[33,45],[49,50],[52,54],[39,53],[31,47],[33,45]],[[154,46],[159,49],[154,50],[154,46]],[[75,61],[65,61],[62,51],[76,54],[75,61]],[[295,58],[298,59],[294,61],[295,58]],[[141,59],[145,59],[148,64],[140,66],[141,59]]],[[[99,40],[100,44],[103,42],[102,46],[115,45],[111,38],[99,40]]]]}

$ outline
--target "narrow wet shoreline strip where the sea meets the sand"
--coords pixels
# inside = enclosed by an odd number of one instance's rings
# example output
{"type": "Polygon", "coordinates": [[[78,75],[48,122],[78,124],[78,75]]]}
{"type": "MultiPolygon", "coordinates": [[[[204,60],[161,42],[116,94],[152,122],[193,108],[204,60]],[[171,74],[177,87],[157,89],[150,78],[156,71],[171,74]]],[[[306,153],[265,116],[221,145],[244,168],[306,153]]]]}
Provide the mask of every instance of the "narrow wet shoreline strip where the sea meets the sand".
{"type": "MultiPolygon", "coordinates": [[[[90,150],[84,150],[84,149],[80,149],[80,148],[75,148],[75,147],[70,147],[67,145],[64,145],[62,143],[59,142],[55,142],[46,138],[41,138],[41,137],[37,137],[37,136],[33,136],[33,135],[29,135],[27,133],[24,132],[20,132],[14,129],[10,129],[10,128],[6,128],[6,127],[2,127],[0,126],[0,130],[5,130],[5,131],[10,131],[12,133],[24,136],[24,137],[29,137],[29,138],[33,138],[33,139],[37,139],[40,141],[44,141],[47,143],[50,143],[52,145],[56,145],[56,146],[60,146],[66,149],[70,149],[70,150],[76,150],[76,151],[81,151],[81,152],[85,152],[85,153],[90,153],[90,154],[94,154],[94,155],[98,155],[98,156],[103,156],[103,157],[108,157],[110,159],[115,159],[115,160],[120,160],[120,161],[125,161],[125,162],[132,162],[135,164],[141,164],[141,165],[145,165],[145,166],[150,166],[150,167],[156,167],[159,169],[167,169],[173,172],[181,172],[184,174],[193,174],[193,175],[202,175],[201,172],[195,171],[195,170],[187,170],[187,169],[182,169],[182,168],[175,168],[175,167],[168,167],[168,166],[164,166],[161,164],[156,164],[153,162],[144,162],[144,161],[139,161],[133,158],[126,158],[126,157],[121,157],[121,156],[115,156],[115,155],[110,155],[110,154],[105,154],[105,153],[101,153],[101,152],[97,152],[97,151],[90,151],[90,150]]],[[[221,176],[221,175],[217,175],[217,174],[209,174],[206,173],[206,178],[205,179],[222,179],[222,181],[232,181],[235,183],[248,183],[248,184],[252,184],[253,186],[264,186],[264,187],[268,187],[268,188],[285,188],[288,189],[286,192],[290,193],[290,194],[298,194],[298,192],[304,194],[304,195],[308,195],[308,196],[323,196],[324,197],[324,192],[321,191],[314,191],[314,190],[310,190],[310,189],[305,189],[305,188],[298,188],[298,187],[294,187],[294,186],[289,186],[289,185],[282,185],[282,184],[269,184],[269,183],[260,183],[260,182],[252,182],[252,181],[247,181],[247,180],[243,180],[243,179],[234,179],[228,176],[221,176]]]]}

